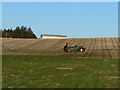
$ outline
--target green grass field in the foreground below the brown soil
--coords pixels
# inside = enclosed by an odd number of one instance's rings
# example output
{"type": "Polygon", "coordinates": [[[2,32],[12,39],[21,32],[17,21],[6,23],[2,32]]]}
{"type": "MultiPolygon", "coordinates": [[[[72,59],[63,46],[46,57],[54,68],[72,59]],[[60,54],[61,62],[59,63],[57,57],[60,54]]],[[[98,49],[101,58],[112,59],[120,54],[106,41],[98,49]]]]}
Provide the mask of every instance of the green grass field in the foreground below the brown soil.
{"type": "Polygon", "coordinates": [[[118,60],[2,57],[3,88],[117,88],[118,60]]]}

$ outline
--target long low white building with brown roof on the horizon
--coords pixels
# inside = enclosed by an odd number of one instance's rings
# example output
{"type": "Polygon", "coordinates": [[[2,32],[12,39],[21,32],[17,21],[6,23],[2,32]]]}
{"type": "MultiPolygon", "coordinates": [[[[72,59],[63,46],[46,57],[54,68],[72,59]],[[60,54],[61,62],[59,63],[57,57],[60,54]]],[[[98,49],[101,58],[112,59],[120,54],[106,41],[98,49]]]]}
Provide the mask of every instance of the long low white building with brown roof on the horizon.
{"type": "Polygon", "coordinates": [[[41,34],[42,39],[66,39],[65,35],[50,35],[50,34],[41,34]]]}

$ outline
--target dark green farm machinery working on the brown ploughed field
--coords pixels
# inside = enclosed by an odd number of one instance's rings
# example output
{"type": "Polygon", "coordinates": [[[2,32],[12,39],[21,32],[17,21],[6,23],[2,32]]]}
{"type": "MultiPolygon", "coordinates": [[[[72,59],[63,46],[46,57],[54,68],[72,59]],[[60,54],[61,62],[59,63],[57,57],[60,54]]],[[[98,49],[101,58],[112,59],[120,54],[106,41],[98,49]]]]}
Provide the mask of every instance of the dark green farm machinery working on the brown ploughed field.
{"type": "Polygon", "coordinates": [[[85,52],[86,48],[83,46],[68,46],[68,43],[64,46],[64,51],[65,52],[85,52]]]}

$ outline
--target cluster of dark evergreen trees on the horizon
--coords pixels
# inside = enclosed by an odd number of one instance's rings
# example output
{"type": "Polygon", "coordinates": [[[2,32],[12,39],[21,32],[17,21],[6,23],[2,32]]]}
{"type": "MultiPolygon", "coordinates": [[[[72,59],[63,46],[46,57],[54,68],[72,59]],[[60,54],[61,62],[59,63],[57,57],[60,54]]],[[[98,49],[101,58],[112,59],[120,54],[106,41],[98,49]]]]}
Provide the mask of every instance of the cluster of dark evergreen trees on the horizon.
{"type": "Polygon", "coordinates": [[[37,38],[33,33],[32,29],[29,27],[16,27],[14,30],[4,29],[2,30],[2,37],[4,38],[37,38]]]}

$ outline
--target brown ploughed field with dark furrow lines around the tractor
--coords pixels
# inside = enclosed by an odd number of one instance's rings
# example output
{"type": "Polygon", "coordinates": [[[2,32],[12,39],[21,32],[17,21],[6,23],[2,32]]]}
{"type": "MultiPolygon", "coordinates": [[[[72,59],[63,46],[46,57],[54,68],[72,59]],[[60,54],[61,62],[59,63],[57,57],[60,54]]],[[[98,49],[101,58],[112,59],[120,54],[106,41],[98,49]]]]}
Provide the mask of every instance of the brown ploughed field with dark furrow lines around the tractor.
{"type": "Polygon", "coordinates": [[[2,38],[3,55],[118,58],[118,38],[12,39],[2,38]],[[64,52],[64,45],[84,46],[86,52],[64,52]]]}

